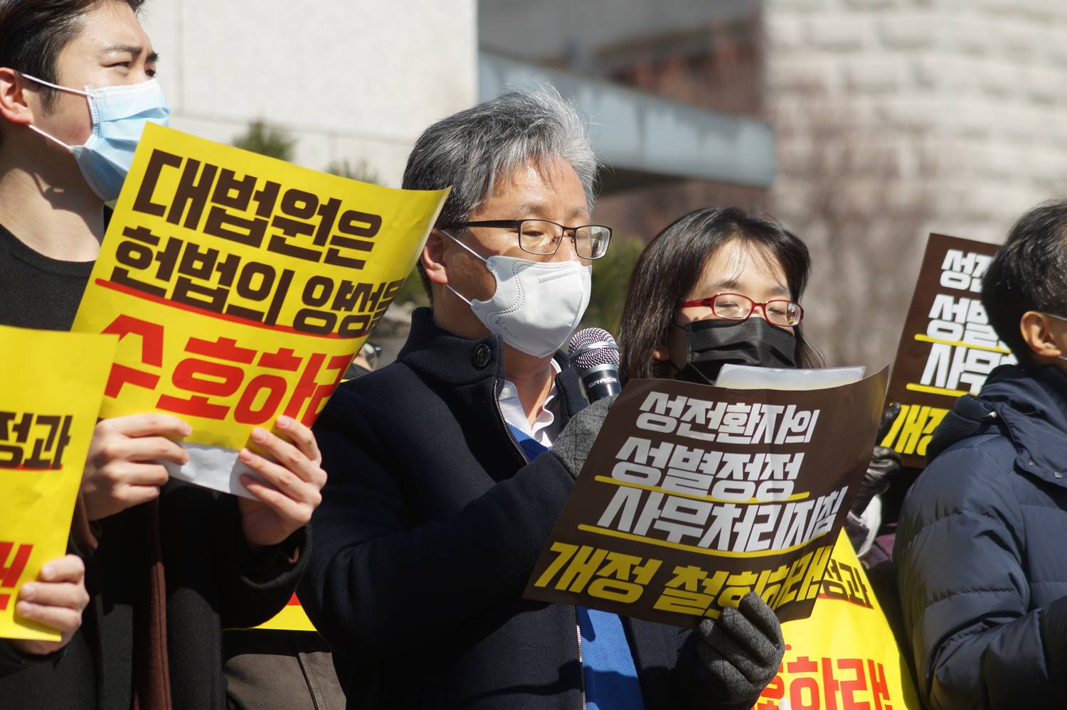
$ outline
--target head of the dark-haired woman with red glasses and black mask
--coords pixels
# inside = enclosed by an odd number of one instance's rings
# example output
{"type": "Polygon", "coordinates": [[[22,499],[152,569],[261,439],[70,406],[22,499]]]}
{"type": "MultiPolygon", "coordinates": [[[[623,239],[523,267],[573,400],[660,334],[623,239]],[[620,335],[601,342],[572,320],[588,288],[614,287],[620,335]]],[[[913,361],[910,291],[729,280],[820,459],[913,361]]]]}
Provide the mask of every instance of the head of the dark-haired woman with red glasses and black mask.
{"type": "Polygon", "coordinates": [[[799,301],[811,258],[797,237],[736,208],[705,208],[652,240],[630,279],[624,377],[713,384],[727,362],[819,367],[799,301]]]}

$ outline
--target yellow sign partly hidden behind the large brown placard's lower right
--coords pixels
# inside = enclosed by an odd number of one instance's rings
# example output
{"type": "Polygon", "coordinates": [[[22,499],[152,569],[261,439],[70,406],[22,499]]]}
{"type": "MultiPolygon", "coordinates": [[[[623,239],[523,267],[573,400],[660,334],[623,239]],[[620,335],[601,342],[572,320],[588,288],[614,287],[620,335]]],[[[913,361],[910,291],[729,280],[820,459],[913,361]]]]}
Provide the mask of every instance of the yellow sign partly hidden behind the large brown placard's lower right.
{"type": "Polygon", "coordinates": [[[785,658],[754,710],[919,708],[908,666],[842,530],[812,615],[782,624],[785,658]]]}

